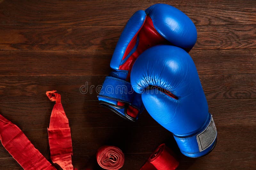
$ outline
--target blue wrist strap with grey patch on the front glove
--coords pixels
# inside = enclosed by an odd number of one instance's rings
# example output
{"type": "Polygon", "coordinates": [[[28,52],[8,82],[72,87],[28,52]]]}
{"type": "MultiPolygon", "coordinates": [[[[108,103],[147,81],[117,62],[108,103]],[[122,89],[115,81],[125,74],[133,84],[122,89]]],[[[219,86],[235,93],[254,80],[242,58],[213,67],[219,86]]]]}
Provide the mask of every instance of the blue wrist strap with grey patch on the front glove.
{"type": "Polygon", "coordinates": [[[216,145],[217,129],[215,127],[212,115],[210,114],[209,120],[203,130],[199,133],[189,137],[174,138],[180,148],[180,151],[189,157],[200,157],[208,152],[211,152],[216,145]]]}

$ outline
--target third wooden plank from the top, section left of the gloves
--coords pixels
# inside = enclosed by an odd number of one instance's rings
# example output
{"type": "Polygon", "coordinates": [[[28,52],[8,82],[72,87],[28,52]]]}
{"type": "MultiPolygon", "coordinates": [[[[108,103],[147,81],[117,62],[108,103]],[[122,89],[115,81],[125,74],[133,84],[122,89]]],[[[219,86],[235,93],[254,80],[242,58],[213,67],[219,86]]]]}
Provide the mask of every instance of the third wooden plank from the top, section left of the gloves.
{"type": "Polygon", "coordinates": [[[113,52],[0,51],[0,76],[108,75],[113,52]]]}

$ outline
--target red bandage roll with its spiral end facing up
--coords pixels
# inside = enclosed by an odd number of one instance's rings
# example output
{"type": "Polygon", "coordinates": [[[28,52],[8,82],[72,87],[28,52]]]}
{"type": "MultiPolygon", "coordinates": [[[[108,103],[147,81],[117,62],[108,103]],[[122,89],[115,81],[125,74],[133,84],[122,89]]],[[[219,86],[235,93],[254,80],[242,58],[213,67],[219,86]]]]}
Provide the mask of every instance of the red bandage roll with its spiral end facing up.
{"type": "Polygon", "coordinates": [[[116,146],[101,146],[96,153],[100,167],[118,170],[124,165],[124,153],[116,146]]]}

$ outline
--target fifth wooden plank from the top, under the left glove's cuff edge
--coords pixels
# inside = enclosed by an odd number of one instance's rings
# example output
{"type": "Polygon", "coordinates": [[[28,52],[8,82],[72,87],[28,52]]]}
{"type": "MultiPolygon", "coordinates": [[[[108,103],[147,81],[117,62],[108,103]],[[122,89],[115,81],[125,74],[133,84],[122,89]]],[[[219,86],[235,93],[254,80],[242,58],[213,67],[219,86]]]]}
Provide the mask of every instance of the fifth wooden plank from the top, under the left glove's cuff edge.
{"type": "MultiPolygon", "coordinates": [[[[46,98],[46,97],[45,97],[46,98]]],[[[64,97],[62,97],[64,99],[64,97]]],[[[256,125],[255,99],[208,100],[209,112],[217,125],[256,125]],[[230,121],[230,119],[232,121],[230,121]]],[[[135,123],[124,120],[95,102],[62,102],[74,128],[160,126],[145,110],[135,123]]],[[[54,102],[0,103],[0,113],[22,130],[49,126],[54,102]]]]}

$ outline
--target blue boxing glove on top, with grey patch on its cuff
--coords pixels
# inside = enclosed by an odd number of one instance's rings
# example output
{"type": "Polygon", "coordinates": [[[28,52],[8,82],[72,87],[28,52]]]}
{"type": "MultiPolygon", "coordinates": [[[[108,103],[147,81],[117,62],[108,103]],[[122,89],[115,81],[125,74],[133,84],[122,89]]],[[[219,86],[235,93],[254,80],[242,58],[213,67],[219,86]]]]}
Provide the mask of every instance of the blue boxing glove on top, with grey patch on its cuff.
{"type": "Polygon", "coordinates": [[[131,83],[142,94],[148,113],[173,133],[184,155],[200,157],[212,151],[217,130],[186,51],[168,45],[149,48],[135,61],[131,83]]]}

